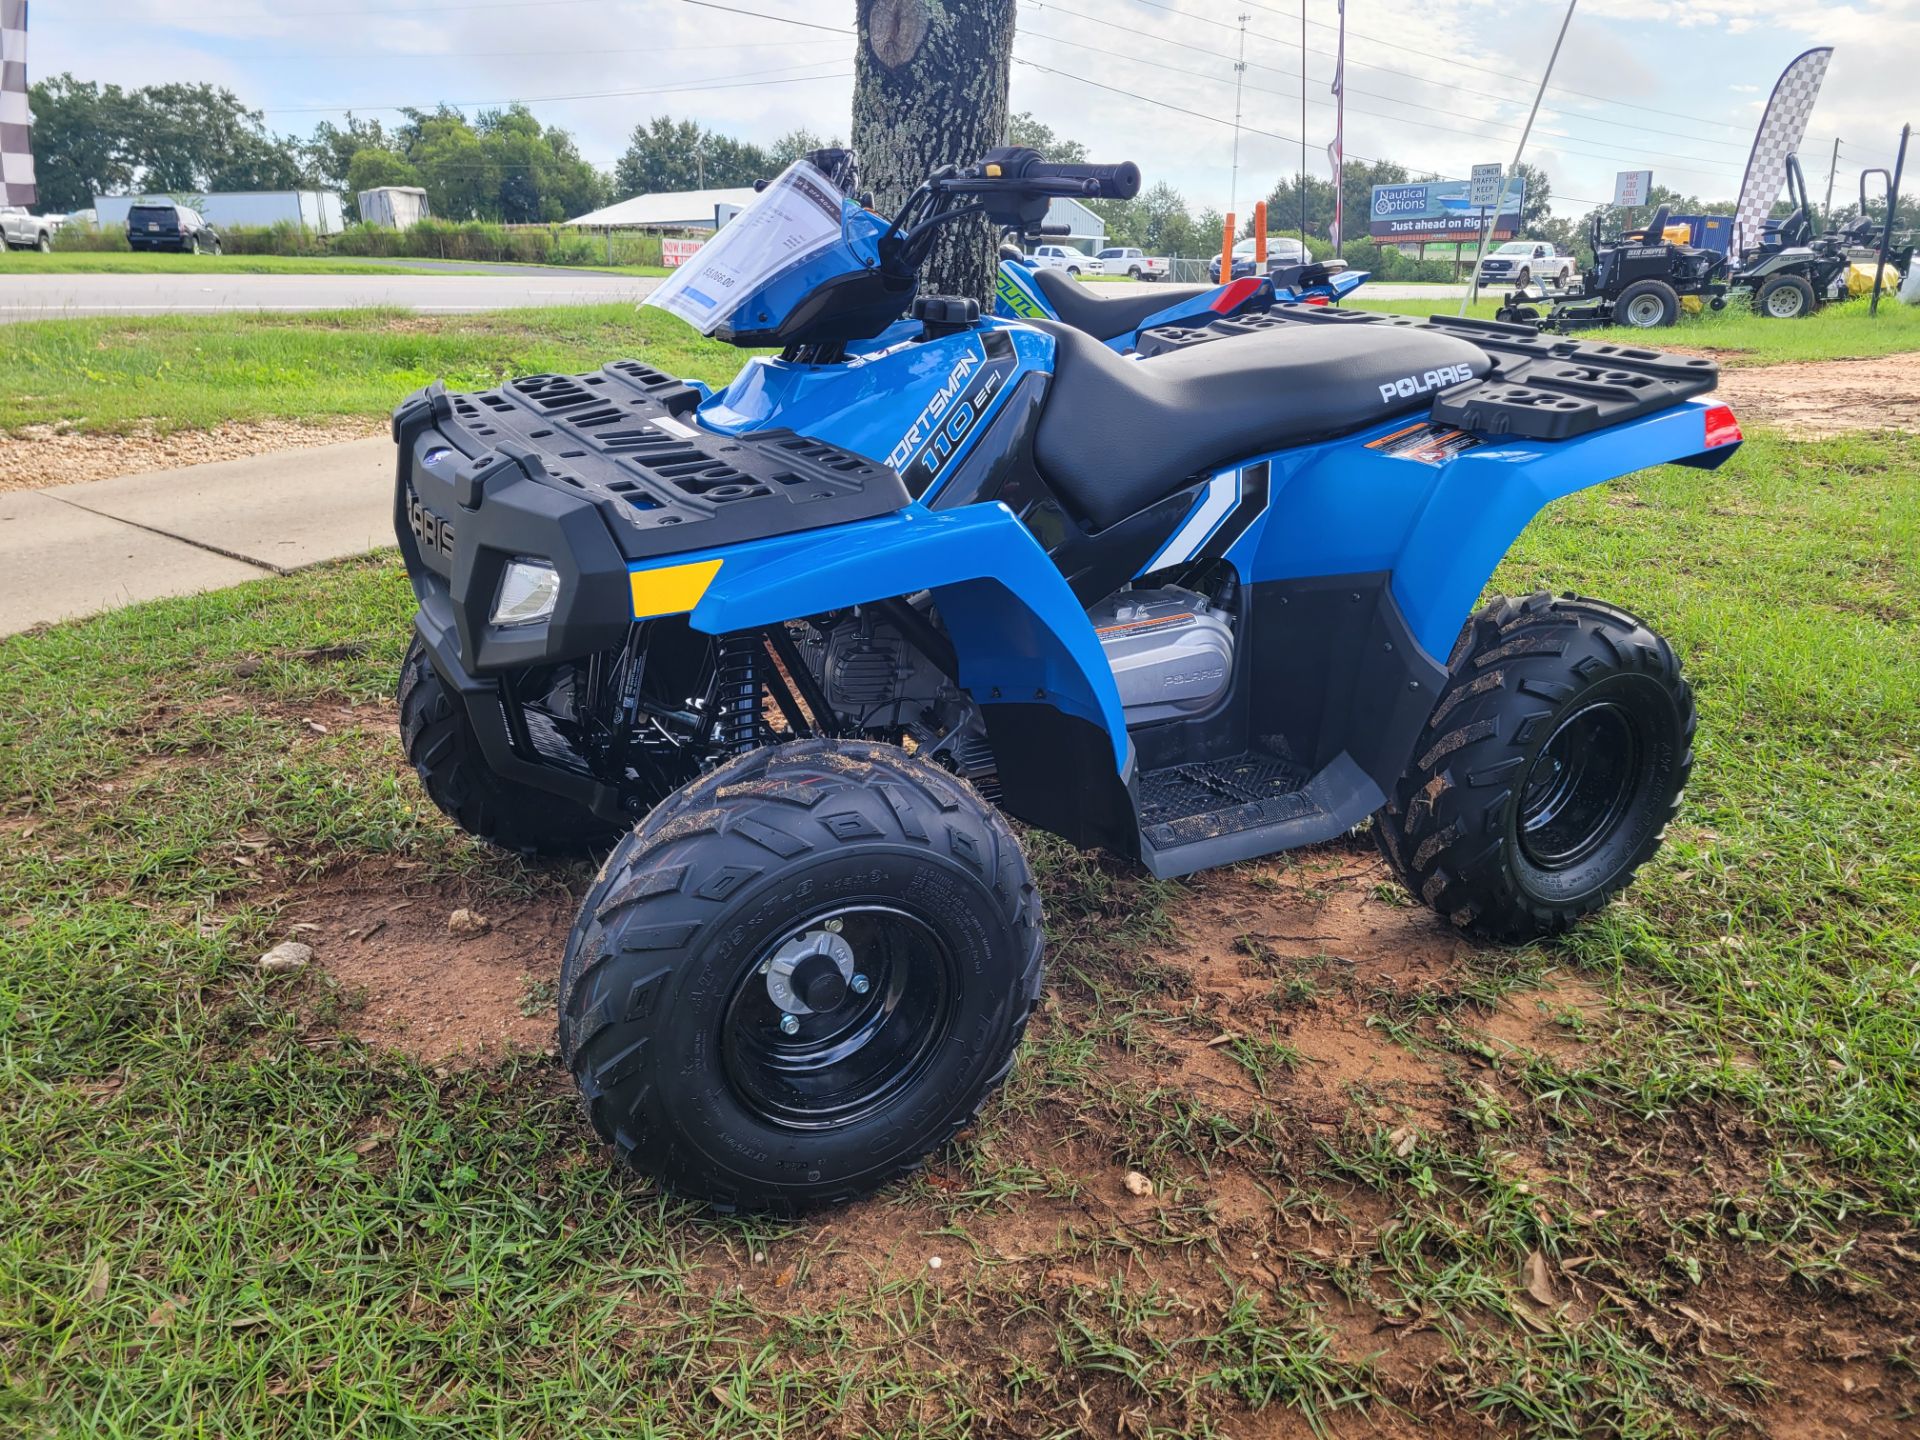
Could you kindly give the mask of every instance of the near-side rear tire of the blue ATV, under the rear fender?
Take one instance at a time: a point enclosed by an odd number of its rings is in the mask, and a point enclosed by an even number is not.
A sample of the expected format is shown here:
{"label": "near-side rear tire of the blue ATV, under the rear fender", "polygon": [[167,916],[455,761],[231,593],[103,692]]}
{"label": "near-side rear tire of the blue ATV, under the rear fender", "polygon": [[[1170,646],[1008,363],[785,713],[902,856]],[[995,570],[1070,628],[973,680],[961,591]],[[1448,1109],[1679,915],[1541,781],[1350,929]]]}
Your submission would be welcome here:
{"label": "near-side rear tire of the blue ATV, under the rear fender", "polygon": [[1576,595],[1494,601],[1448,668],[1375,839],[1457,927],[1557,935],[1659,849],[1693,768],[1693,691],[1665,639]]}

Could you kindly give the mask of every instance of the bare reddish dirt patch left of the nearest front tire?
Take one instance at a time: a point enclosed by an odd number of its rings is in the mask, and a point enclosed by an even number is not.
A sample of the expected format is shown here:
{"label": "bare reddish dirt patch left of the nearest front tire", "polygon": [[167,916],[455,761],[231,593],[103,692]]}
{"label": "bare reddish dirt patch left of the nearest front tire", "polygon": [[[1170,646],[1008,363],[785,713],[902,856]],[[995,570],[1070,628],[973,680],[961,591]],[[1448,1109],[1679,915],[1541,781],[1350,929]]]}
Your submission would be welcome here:
{"label": "bare reddish dirt patch left of the nearest front tire", "polygon": [[[340,985],[340,1029],[451,1068],[551,1052],[553,981],[574,908],[559,883],[501,899],[390,860],[303,885],[282,927]],[[455,910],[482,916],[484,929],[455,933]]]}

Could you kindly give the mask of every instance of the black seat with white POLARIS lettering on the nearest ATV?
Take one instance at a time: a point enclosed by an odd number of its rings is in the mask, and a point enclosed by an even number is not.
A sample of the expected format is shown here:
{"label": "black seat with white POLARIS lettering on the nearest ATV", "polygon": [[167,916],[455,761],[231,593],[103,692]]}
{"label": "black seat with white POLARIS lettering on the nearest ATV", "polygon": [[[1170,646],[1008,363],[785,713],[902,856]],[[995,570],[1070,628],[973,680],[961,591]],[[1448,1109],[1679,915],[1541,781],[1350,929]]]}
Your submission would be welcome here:
{"label": "black seat with white POLARIS lettering on the nearest ATV", "polygon": [[1035,324],[1056,349],[1033,457],[1102,530],[1212,467],[1423,411],[1494,369],[1425,326],[1288,324],[1123,359],[1068,324]]}

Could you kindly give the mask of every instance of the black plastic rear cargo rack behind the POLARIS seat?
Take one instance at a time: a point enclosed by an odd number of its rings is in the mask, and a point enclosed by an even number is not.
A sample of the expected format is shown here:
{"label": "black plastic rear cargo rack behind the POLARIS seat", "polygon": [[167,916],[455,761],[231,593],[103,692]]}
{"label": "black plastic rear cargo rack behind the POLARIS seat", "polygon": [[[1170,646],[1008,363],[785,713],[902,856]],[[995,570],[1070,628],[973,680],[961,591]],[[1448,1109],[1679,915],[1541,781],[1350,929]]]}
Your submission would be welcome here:
{"label": "black plastic rear cargo rack behind the POLARIS seat", "polygon": [[1471,340],[1494,359],[1486,376],[1440,392],[1432,419],[1480,436],[1572,440],[1705,396],[1720,378],[1711,359],[1642,346],[1546,336],[1526,324],[1455,315],[1388,315],[1331,305],[1275,305],[1188,330],[1152,330],[1142,355],[1290,324],[1428,326]]}

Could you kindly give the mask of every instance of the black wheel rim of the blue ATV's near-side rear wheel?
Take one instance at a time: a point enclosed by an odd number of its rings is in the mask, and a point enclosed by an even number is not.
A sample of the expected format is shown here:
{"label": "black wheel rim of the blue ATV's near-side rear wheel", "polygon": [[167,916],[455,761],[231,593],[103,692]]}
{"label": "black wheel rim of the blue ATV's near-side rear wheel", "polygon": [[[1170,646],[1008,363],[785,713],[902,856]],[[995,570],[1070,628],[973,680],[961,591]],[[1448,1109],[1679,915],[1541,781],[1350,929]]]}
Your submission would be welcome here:
{"label": "black wheel rim of the blue ATV's near-side rear wheel", "polygon": [[1521,851],[1540,870],[1571,870],[1619,829],[1632,808],[1644,753],[1632,712],[1611,701],[1559,722],[1521,789]]}

